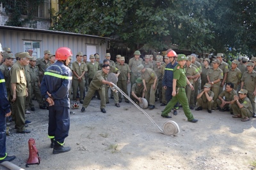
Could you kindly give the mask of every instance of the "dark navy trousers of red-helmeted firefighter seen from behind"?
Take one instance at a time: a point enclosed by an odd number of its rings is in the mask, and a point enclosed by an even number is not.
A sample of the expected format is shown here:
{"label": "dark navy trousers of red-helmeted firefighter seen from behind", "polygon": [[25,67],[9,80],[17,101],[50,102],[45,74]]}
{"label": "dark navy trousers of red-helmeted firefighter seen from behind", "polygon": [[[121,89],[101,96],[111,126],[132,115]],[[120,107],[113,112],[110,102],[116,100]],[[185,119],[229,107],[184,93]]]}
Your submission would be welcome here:
{"label": "dark navy trousers of red-helmeted firefighter seen from behind", "polygon": [[48,135],[54,137],[60,144],[68,137],[70,126],[70,108],[63,106],[49,106],[49,127]]}

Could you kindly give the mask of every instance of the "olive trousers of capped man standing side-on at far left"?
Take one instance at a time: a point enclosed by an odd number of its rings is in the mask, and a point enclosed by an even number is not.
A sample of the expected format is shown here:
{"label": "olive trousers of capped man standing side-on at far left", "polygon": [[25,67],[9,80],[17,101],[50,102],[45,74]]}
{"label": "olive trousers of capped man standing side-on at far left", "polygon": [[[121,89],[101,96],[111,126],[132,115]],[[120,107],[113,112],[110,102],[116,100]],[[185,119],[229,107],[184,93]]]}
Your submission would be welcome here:
{"label": "olive trousers of capped man standing side-on at far left", "polygon": [[25,103],[26,96],[17,96],[15,100],[15,126],[17,132],[25,130]]}

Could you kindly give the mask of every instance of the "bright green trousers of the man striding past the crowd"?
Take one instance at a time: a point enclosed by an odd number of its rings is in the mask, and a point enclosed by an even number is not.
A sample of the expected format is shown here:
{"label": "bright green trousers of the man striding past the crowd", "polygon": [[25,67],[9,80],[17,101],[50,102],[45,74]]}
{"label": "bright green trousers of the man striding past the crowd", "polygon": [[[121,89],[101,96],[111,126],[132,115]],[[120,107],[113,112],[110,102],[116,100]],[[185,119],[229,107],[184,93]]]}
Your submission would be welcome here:
{"label": "bright green trousers of the man striding past the crowd", "polygon": [[175,106],[175,104],[178,101],[182,105],[182,109],[183,109],[186,117],[188,118],[188,121],[193,120],[194,117],[193,117],[193,115],[191,113],[191,110],[189,109],[188,99],[187,99],[187,96],[186,96],[186,90],[184,88],[180,88],[179,89],[179,93],[176,94],[176,96],[172,97],[170,102],[164,108],[164,110],[162,112],[162,115],[163,116],[168,116],[168,113],[170,113],[170,111],[172,110],[172,108]]}

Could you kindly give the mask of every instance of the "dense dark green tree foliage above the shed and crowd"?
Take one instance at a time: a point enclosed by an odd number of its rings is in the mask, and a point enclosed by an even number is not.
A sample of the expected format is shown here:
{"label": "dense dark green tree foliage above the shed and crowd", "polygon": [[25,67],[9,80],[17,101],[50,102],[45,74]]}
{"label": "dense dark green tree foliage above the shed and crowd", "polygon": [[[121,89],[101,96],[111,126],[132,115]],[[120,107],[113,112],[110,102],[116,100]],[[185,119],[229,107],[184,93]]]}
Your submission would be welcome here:
{"label": "dense dark green tree foliage above the shed and crowd", "polygon": [[136,49],[255,50],[253,0],[60,0],[51,29],[111,37]]}

